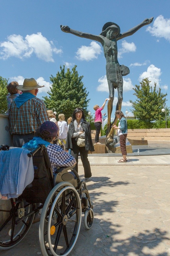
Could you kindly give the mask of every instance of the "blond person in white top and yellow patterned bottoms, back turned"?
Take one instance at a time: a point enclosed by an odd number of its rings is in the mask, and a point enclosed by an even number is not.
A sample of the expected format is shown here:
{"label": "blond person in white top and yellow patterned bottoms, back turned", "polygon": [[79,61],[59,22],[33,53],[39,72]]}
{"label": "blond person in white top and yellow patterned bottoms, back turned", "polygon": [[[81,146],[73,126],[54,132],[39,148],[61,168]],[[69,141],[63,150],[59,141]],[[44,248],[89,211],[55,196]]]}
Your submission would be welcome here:
{"label": "blond person in white top and yellow patterned bottoms, back turned", "polygon": [[58,127],[59,127],[59,138],[58,138],[58,143],[59,146],[65,150],[66,148],[66,138],[67,138],[67,132],[68,132],[68,125],[67,122],[65,121],[65,116],[64,114],[59,114],[58,115],[59,121]]}

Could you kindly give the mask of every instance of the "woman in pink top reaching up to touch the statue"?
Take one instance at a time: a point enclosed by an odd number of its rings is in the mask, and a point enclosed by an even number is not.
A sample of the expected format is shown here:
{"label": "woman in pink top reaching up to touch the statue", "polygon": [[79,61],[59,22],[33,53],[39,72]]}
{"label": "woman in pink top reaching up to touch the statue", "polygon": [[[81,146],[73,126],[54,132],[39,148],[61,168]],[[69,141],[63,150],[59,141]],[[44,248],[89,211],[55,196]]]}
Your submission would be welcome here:
{"label": "woman in pink top reaching up to touch the statue", "polygon": [[94,126],[96,127],[95,144],[101,144],[99,142],[99,134],[100,134],[101,125],[102,125],[101,111],[104,109],[107,100],[109,100],[109,99],[105,99],[105,101],[101,107],[99,107],[99,105],[94,105],[94,107],[93,107],[95,110]]}

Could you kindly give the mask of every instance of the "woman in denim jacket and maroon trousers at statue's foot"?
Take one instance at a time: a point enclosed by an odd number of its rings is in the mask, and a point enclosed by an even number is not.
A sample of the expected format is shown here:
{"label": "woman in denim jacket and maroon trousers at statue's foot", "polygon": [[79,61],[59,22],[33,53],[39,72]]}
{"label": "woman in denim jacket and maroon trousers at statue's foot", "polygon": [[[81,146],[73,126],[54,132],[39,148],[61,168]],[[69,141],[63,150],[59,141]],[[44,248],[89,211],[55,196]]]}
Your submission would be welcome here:
{"label": "woman in denim jacket and maroon trousers at statue's foot", "polygon": [[115,112],[115,116],[118,117],[119,123],[118,126],[114,125],[113,128],[117,129],[117,135],[120,138],[120,148],[123,158],[118,161],[118,163],[127,162],[127,151],[126,151],[126,138],[127,138],[127,121],[124,116],[124,113],[121,110]]}

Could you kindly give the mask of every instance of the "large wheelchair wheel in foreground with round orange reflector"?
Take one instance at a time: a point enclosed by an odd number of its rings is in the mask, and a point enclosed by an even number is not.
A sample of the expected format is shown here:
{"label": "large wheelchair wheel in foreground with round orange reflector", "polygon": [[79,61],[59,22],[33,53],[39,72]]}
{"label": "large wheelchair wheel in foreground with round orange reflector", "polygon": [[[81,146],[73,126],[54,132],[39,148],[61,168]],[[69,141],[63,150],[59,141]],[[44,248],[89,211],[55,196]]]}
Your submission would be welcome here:
{"label": "large wheelchair wheel in foreground with round orange reflector", "polygon": [[76,244],[80,226],[80,196],[71,183],[60,182],[49,193],[41,213],[42,255],[68,255]]}

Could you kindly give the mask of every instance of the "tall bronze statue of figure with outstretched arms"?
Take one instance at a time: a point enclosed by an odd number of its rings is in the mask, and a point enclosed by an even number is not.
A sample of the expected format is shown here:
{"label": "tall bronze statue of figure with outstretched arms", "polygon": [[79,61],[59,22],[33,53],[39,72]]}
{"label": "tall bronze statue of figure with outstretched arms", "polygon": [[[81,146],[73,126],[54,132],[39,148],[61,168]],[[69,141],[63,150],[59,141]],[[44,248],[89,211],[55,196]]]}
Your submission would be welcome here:
{"label": "tall bronze statue of figure with outstretched arms", "polygon": [[84,32],[80,32],[77,30],[73,30],[68,26],[62,26],[61,30],[66,33],[70,33],[79,37],[84,37],[87,39],[98,41],[102,44],[104,49],[104,56],[106,58],[106,76],[107,83],[109,86],[109,98],[107,104],[107,138],[106,138],[106,146],[112,151],[114,148],[114,129],[112,128],[113,124],[116,124],[117,117],[115,117],[113,123],[111,124],[111,113],[113,108],[113,100],[114,100],[114,89],[117,88],[118,92],[118,100],[116,105],[116,110],[121,110],[121,105],[123,101],[123,78],[122,76],[126,76],[130,73],[129,68],[124,65],[119,65],[117,60],[117,41],[133,35],[137,30],[141,27],[148,25],[152,22],[153,17],[150,19],[145,19],[136,27],[131,28],[129,31],[121,34],[120,27],[114,22],[107,22],[104,24],[102,28],[102,32],[100,35],[93,35]]}

